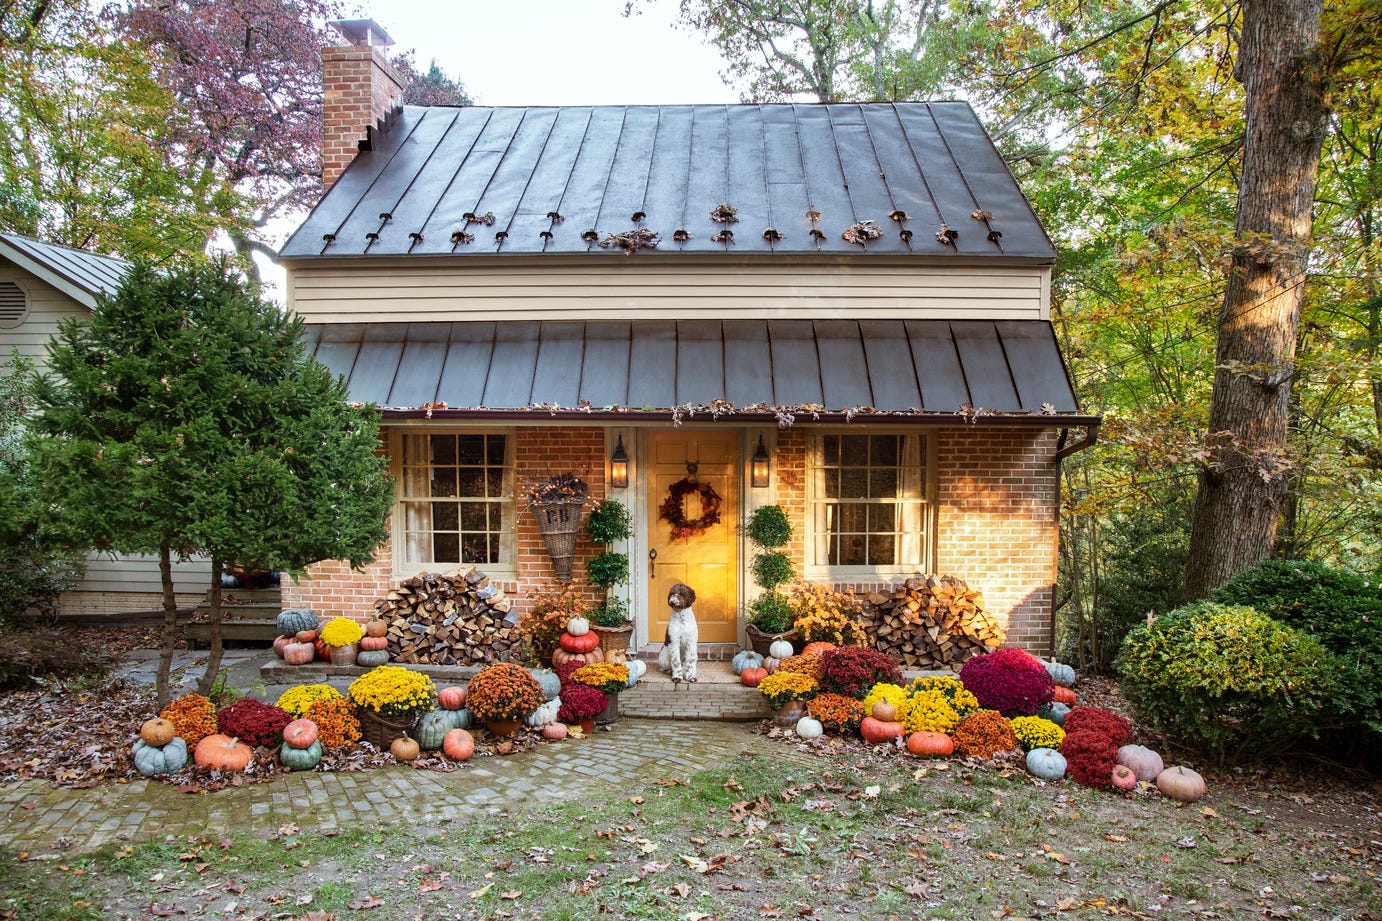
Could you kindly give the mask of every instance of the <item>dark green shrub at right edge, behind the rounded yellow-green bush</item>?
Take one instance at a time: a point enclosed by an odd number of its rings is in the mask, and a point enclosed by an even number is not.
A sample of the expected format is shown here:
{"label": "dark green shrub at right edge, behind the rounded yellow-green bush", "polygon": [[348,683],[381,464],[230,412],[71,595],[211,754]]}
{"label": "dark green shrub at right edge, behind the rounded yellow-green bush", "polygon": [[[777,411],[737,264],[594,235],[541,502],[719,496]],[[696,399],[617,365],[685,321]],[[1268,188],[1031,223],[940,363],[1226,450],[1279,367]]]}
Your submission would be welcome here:
{"label": "dark green shrub at right edge, behind the rounded yellow-green bush", "polygon": [[1375,582],[1323,563],[1265,560],[1212,597],[1251,604],[1320,640],[1343,669],[1338,709],[1382,733],[1382,590]]}

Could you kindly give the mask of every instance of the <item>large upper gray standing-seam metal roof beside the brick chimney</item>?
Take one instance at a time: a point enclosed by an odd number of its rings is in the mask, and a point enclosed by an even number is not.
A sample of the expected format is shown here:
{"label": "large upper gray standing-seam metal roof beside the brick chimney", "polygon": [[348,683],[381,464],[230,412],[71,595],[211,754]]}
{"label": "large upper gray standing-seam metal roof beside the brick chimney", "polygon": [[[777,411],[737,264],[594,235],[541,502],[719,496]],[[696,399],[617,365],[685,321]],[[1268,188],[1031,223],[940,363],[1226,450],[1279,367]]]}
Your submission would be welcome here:
{"label": "large upper gray standing-seam metal roof beside the brick chimney", "polygon": [[[840,238],[860,221],[882,235]],[[636,228],[659,253],[1054,259],[966,102],[404,108],[281,256],[621,254],[598,241]]]}

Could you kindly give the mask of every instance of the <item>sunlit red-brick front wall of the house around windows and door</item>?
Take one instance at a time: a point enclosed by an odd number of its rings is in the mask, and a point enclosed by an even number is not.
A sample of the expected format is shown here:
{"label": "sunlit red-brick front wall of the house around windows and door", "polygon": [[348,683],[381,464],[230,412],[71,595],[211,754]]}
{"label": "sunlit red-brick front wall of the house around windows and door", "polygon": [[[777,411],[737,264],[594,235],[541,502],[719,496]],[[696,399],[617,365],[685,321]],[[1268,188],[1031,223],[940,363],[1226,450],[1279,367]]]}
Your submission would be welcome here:
{"label": "sunlit red-brick front wall of the house around windows and door", "polygon": [[[590,484],[590,505],[605,496],[605,431],[598,426],[527,426],[513,430],[515,487],[553,473],[575,472]],[[807,437],[803,427],[778,433],[774,451],[775,501],[788,509],[796,535],[788,548],[806,563]],[[1052,644],[1050,610],[1056,579],[1057,476],[1052,462],[1056,433],[1045,429],[966,426],[933,430],[936,441],[933,567],[963,578],[984,592],[990,611],[1006,621],[1009,642],[1036,653]],[[637,492],[621,499],[637,520]],[[546,543],[518,499],[517,578],[496,578],[521,613],[536,592],[556,585]],[[585,563],[600,550],[583,535],[576,545],[572,578],[585,585]],[[301,582],[285,581],[283,603],[319,614],[363,620],[375,600],[394,585],[392,543],[375,563],[351,573],[344,563],[323,563]],[[887,582],[849,582],[855,590],[883,590]],[[589,589],[590,597],[596,592]]]}

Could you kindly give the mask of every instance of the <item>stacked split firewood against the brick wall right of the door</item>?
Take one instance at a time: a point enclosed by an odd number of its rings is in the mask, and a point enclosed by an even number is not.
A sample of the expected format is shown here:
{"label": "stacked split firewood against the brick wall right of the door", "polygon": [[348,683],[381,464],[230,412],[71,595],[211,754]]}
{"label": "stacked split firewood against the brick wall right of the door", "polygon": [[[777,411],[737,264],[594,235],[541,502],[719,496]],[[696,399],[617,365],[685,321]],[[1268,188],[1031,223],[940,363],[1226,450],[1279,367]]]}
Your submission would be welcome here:
{"label": "stacked split firewood against the brick wall right of the door", "polygon": [[952,575],[914,577],[890,593],[864,599],[869,642],[902,668],[959,669],[969,657],[1003,644],[1003,628],[981,592]]}

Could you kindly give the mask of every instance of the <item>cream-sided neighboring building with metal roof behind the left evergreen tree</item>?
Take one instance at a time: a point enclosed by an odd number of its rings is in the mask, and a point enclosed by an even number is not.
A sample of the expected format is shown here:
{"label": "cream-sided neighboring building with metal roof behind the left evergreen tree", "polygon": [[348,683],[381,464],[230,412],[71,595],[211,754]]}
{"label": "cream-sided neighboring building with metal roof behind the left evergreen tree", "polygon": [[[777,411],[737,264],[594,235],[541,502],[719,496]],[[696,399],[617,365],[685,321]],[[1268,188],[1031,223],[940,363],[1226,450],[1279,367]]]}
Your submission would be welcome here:
{"label": "cream-sided neighboring building with metal roof behind the left evergreen tree", "polygon": [[[0,365],[11,353],[41,368],[58,321],[87,317],[101,295],[113,292],[130,264],[18,234],[0,234]],[[205,560],[173,567],[178,606],[192,607],[210,584]],[[152,556],[93,553],[86,577],[62,597],[64,613],[152,611],[163,604],[159,561]]]}

